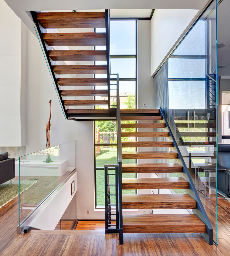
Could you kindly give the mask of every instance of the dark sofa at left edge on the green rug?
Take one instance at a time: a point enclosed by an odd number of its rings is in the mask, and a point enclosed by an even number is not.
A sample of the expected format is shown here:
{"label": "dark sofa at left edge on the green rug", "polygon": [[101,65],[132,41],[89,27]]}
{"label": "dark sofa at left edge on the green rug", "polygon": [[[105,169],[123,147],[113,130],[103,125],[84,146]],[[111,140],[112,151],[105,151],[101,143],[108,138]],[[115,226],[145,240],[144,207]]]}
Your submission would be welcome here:
{"label": "dark sofa at left edge on the green rug", "polygon": [[0,184],[15,177],[14,158],[8,156],[8,152],[0,154]]}

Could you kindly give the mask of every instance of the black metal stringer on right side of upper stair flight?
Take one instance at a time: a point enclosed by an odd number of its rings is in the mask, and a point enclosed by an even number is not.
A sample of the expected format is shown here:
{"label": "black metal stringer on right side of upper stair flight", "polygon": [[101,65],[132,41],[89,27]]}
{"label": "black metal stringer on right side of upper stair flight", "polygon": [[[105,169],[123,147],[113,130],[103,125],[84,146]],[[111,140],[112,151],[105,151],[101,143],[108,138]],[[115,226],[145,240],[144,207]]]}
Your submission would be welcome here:
{"label": "black metal stringer on right side of upper stair flight", "polygon": [[109,10],[105,10],[105,40],[106,40],[106,62],[107,62],[108,107],[109,107],[109,116],[110,116],[110,17],[109,17]]}

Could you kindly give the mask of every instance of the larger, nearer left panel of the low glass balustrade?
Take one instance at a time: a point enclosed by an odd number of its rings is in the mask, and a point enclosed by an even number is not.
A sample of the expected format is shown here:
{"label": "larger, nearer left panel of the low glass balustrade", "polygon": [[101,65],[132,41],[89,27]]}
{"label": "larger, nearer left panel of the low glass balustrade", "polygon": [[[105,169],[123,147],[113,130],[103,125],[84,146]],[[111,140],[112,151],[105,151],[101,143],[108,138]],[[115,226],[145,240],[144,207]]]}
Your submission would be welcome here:
{"label": "larger, nearer left panel of the low glass balustrade", "polygon": [[59,146],[19,157],[19,184],[20,225],[59,185]]}

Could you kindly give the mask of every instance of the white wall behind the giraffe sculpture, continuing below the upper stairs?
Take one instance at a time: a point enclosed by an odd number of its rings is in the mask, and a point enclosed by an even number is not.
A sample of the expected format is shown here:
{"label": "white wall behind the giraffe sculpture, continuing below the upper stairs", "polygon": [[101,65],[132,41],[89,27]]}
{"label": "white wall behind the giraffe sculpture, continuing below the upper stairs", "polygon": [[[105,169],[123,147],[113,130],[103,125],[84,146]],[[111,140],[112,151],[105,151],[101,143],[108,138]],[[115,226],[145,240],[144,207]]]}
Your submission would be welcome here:
{"label": "white wall behind the giraffe sculpture, continuing below the upper stairs", "polygon": [[[66,120],[57,99],[50,73],[38,39],[27,29],[26,54],[26,153],[46,147],[45,125],[51,114],[51,145],[76,140],[77,217],[103,218],[103,213],[94,216],[94,148],[93,122]],[[86,215],[89,210],[89,215]]]}

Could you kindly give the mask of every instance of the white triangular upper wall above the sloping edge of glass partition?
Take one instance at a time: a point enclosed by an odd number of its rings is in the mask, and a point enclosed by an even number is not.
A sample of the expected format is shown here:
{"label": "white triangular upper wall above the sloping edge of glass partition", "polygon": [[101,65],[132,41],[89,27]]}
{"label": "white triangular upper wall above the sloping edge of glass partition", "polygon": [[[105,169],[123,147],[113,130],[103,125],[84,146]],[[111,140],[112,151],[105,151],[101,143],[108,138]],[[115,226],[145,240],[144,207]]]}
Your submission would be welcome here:
{"label": "white triangular upper wall above the sloping edge of glass partition", "polygon": [[158,9],[151,20],[151,75],[199,10]]}

